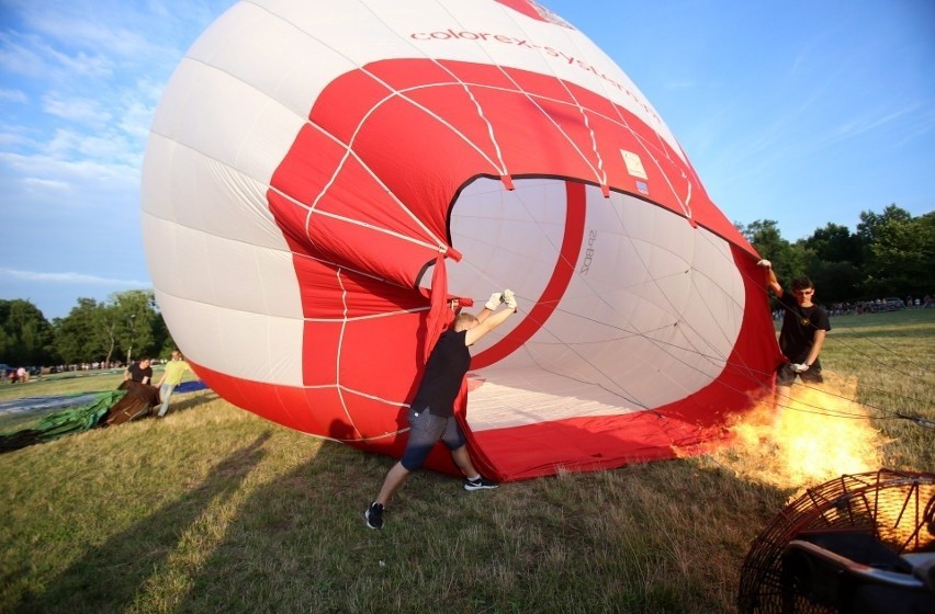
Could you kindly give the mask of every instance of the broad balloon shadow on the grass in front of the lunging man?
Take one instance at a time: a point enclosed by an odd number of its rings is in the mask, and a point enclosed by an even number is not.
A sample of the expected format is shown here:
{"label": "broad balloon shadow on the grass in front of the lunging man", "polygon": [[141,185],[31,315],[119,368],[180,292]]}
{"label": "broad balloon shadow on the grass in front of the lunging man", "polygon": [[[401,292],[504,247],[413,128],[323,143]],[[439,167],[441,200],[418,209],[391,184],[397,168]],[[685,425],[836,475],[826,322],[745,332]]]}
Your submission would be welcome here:
{"label": "broad balloon shadow on the grass in front of the lunging man", "polygon": [[729,612],[751,509],[782,500],[681,462],[474,493],[425,470],[372,531],[393,462],[324,442],[244,501],[173,612]]}

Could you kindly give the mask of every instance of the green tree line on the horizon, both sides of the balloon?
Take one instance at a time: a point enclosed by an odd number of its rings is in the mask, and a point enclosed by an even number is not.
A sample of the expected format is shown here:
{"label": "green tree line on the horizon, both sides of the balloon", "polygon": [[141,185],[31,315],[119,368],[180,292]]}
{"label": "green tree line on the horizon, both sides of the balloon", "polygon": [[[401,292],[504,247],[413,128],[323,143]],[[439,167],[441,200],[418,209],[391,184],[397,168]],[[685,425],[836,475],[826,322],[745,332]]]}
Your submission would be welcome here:
{"label": "green tree line on the horizon, both sides of the balloon", "polygon": [[[857,230],[829,223],[806,239],[782,238],[771,219],[736,224],[753,247],[773,262],[780,282],[808,275],[826,305],[888,296],[931,295],[935,270],[935,213],[913,217],[890,205],[863,212]],[[0,300],[0,363],[56,365],[128,363],[162,356],[172,339],[151,291],[112,294],[108,300],[79,298],[52,322],[23,299]]]}

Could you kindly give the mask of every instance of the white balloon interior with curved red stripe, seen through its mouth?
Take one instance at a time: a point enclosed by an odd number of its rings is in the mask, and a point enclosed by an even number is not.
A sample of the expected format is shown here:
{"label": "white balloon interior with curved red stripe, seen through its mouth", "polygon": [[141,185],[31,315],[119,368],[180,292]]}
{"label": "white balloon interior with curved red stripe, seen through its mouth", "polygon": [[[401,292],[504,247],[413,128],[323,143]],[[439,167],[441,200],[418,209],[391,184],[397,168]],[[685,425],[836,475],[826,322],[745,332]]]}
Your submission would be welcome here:
{"label": "white balloon interior with curved red stripe, seen through its mouth", "polygon": [[[740,286],[726,243],[637,195],[512,179],[512,191],[474,179],[451,207],[450,237],[464,258],[448,263],[449,292],[477,305],[505,287],[520,297],[519,317],[475,345],[472,369],[494,383],[542,369],[593,386],[583,394],[605,407],[613,397],[611,411],[622,412],[690,397],[721,374],[744,309],[730,296]],[[690,308],[709,302],[723,309]],[[658,365],[672,386],[650,383],[646,368]]]}

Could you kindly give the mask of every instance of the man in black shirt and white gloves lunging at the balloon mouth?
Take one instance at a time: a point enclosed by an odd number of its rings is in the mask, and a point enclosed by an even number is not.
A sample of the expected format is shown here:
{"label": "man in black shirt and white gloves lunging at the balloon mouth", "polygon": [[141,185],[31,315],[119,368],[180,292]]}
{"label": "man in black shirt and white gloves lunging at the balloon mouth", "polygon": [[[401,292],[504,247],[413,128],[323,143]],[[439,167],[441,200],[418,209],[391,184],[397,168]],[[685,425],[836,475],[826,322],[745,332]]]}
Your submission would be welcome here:
{"label": "man in black shirt and white gloves lunging at the balloon mouth", "polygon": [[[502,304],[506,309],[497,310]],[[438,441],[464,474],[465,490],[487,490],[497,484],[483,477],[471,462],[466,437],[454,418],[454,400],[471,367],[469,348],[516,312],[511,289],[495,292],[475,317],[459,314],[454,325],[441,333],[426,363],[425,374],[409,405],[409,439],[403,457],[386,473],[376,499],[364,510],[370,528],[383,528],[383,509],[406,478],[425,463]]]}

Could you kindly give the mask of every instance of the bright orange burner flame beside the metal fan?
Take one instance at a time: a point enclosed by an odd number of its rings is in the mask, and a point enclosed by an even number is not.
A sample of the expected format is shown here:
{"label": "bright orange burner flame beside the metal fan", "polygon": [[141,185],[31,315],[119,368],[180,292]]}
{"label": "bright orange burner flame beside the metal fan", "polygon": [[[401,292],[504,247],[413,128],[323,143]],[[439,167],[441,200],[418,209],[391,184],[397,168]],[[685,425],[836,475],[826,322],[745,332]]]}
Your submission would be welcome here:
{"label": "bright orange burner flame beside the metal fan", "polygon": [[885,443],[867,411],[852,401],[857,379],[796,385],[730,427],[733,444],[712,457],[737,475],[799,488],[880,467]]}

